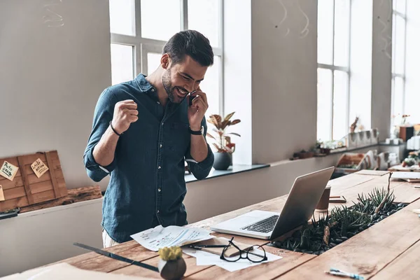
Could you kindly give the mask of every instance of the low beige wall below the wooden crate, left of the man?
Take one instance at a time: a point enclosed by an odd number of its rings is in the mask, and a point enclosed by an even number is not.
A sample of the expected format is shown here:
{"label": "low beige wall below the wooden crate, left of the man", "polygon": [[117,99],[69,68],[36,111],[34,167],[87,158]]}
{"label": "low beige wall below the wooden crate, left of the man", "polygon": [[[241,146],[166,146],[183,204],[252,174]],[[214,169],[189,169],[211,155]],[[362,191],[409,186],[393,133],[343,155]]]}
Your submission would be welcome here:
{"label": "low beige wall below the wooden crate, left of the man", "polygon": [[19,214],[0,221],[0,277],[102,248],[102,199]]}

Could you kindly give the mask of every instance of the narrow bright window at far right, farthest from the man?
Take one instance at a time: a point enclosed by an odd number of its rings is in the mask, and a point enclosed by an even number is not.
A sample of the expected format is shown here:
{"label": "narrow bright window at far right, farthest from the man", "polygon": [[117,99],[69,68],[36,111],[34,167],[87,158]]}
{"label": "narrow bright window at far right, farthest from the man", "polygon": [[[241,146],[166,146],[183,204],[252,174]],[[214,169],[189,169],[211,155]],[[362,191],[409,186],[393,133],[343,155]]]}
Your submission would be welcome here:
{"label": "narrow bright window at far right, farthest from the man", "polygon": [[[393,1],[392,22],[392,83],[391,128],[400,123],[405,114],[405,41],[407,27],[406,0]],[[394,118],[395,117],[395,118]],[[392,132],[392,131],[391,131]]]}

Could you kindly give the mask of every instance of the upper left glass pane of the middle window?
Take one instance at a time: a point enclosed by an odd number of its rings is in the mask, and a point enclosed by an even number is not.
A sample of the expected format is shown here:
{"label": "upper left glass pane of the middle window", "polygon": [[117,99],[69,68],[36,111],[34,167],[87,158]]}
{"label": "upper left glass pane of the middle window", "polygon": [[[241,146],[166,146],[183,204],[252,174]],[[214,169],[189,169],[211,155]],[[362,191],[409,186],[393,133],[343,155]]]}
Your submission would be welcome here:
{"label": "upper left glass pane of the middle window", "polygon": [[334,0],[318,1],[318,63],[332,64]]}

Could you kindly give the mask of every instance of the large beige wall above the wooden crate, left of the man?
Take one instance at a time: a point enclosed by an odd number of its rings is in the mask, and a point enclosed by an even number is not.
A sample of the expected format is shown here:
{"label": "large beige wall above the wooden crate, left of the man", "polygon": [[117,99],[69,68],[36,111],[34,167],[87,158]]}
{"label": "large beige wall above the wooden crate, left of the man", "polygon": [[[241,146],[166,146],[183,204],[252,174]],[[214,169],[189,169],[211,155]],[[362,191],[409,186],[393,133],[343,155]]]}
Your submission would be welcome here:
{"label": "large beige wall above the wooden crate, left of the man", "polygon": [[92,184],[83,151],[111,84],[108,22],[104,0],[0,1],[0,158],[57,150],[68,188]]}

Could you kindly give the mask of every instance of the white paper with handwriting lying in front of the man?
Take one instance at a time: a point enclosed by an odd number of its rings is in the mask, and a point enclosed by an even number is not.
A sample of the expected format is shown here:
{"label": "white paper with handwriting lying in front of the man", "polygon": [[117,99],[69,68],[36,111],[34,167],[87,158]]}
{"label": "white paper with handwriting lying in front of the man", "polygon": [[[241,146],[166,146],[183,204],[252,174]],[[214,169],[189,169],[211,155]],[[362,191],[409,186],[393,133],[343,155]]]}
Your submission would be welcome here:
{"label": "white paper with handwriting lying in front of the man", "polygon": [[131,235],[141,246],[151,251],[159,251],[159,248],[170,246],[183,246],[194,242],[212,239],[209,230],[202,228],[183,228],[170,225],[163,228],[158,225],[156,228]]}

